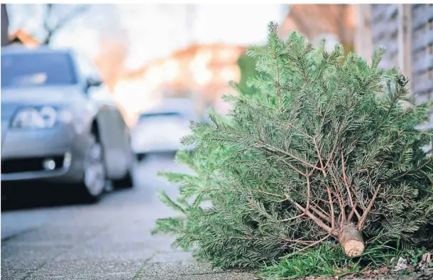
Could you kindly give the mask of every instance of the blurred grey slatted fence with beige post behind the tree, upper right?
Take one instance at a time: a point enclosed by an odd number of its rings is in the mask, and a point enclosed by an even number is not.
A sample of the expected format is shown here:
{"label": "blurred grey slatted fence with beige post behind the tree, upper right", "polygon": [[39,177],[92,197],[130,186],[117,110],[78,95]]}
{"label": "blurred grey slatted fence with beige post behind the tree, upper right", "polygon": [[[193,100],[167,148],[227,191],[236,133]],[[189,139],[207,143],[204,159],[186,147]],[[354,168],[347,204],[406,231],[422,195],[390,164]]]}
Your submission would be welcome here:
{"label": "blurred grey slatted fence with beige post behind the tree, upper right", "polygon": [[433,99],[433,5],[364,4],[358,9],[356,49],[371,57],[385,48],[384,69],[398,67],[410,78],[417,103]]}

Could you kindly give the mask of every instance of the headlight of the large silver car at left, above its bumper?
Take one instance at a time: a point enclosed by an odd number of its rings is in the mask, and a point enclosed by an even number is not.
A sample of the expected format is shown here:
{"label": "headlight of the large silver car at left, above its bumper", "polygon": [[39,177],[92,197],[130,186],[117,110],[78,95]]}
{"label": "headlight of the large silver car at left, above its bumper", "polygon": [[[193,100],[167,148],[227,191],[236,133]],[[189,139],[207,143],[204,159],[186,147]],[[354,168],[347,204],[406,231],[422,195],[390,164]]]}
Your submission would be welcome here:
{"label": "headlight of the large silver car at left, above its bumper", "polygon": [[18,111],[13,118],[13,128],[49,128],[56,124],[72,122],[73,114],[69,109],[51,106],[26,107]]}

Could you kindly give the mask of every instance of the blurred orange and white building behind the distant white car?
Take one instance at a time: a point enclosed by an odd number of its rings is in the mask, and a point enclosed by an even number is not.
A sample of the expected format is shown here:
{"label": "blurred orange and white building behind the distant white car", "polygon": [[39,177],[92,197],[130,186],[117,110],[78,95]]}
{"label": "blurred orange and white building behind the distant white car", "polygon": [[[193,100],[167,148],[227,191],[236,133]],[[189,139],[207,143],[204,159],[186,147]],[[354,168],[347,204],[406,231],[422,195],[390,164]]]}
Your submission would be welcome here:
{"label": "blurred orange and white building behind the distant white car", "polygon": [[230,80],[239,81],[236,61],[245,50],[243,46],[228,44],[191,45],[143,68],[124,72],[114,94],[131,108],[131,114],[138,114],[165,97],[193,99],[197,113],[203,113],[221,95],[231,92]]}

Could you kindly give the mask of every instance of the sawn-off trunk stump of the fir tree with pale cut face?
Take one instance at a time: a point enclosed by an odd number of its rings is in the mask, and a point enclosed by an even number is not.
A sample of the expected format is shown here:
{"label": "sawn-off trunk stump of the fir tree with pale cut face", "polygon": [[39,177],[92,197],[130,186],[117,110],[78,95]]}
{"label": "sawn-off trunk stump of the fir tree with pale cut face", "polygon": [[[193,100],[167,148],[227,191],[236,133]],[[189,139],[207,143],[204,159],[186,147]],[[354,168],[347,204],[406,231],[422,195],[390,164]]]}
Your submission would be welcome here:
{"label": "sawn-off trunk stump of the fir tree with pale cut face", "polygon": [[343,227],[339,241],[344,254],[348,257],[357,257],[366,249],[361,232],[353,224],[347,224]]}

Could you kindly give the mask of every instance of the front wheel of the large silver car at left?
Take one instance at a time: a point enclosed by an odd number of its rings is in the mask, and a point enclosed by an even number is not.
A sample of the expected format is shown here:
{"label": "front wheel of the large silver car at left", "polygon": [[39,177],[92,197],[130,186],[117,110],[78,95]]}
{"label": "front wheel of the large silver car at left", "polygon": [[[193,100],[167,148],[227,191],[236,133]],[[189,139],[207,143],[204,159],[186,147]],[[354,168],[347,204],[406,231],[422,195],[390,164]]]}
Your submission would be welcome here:
{"label": "front wheel of the large silver car at left", "polygon": [[90,134],[89,139],[90,144],[84,156],[84,172],[79,185],[79,194],[82,202],[96,203],[104,193],[106,186],[104,149],[94,134]]}

